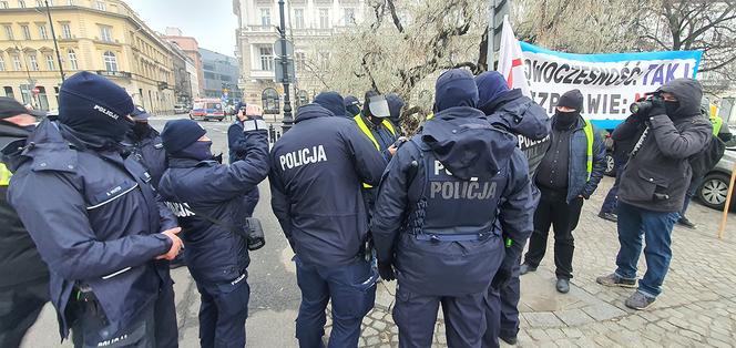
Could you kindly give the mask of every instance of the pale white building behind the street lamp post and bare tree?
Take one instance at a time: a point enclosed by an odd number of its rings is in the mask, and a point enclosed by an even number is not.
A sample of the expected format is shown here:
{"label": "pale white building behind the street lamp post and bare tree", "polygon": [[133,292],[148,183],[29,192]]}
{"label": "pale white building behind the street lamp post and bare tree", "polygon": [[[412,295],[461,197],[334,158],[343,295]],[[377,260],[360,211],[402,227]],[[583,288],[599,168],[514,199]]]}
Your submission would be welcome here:
{"label": "pale white building behind the street lamp post and bare tree", "polygon": [[[362,21],[365,0],[287,0],[285,1],[287,39],[294,42],[296,83],[290,86],[292,108],[310,101],[325,89],[319,75],[328,68],[327,40],[340,29]],[[237,52],[241,62],[239,86],[246,102],[262,103],[262,93],[275,89],[282,99],[283,85],[275,82],[274,44],[279,34],[277,0],[233,0],[238,17]],[[301,99],[295,94],[303,95]],[[280,122],[280,115],[268,116]]]}

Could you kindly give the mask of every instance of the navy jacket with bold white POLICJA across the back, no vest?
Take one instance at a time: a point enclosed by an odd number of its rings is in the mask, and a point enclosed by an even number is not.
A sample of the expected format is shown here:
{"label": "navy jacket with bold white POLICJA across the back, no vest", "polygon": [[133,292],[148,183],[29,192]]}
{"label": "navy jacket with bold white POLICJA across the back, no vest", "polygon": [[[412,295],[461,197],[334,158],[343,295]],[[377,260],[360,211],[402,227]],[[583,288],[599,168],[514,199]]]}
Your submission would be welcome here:
{"label": "navy jacket with bold white POLICJA across the back, no vest", "polygon": [[362,183],[378,185],[386,161],[352,120],[317,104],[270,152],[272,207],[296,255],[338,266],[358,257],[368,234]]}

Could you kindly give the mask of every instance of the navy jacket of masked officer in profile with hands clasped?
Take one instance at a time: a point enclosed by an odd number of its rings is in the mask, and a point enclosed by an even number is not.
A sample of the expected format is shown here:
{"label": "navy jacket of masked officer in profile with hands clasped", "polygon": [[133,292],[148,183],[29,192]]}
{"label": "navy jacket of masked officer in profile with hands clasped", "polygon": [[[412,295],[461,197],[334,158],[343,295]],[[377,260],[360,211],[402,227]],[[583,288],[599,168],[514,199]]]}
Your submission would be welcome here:
{"label": "navy jacket of masked officer in profile with hands clasped", "polygon": [[[161,234],[176,219],[160,202],[151,175],[121,151],[89,150],[63,124],[45,120],[27,145],[4,158],[14,171],[9,201],[51,272],[50,290],[62,337],[64,310],[89,286],[116,331],[132,324],[171,283],[171,248]],[[9,162],[6,162],[7,164]]]}

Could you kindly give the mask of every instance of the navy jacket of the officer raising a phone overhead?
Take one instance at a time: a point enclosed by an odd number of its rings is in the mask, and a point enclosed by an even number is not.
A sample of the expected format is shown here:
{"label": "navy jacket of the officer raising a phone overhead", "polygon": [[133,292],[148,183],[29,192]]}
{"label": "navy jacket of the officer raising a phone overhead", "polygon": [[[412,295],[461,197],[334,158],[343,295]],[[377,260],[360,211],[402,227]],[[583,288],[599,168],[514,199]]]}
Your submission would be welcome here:
{"label": "navy jacket of the officer raising a phone overhead", "polygon": [[267,131],[254,126],[245,147],[245,158],[231,165],[172,157],[159,185],[178,217],[184,258],[197,282],[232,282],[245,274],[251,262],[247,240],[234,228],[244,228],[247,217],[243,193],[268,175]]}

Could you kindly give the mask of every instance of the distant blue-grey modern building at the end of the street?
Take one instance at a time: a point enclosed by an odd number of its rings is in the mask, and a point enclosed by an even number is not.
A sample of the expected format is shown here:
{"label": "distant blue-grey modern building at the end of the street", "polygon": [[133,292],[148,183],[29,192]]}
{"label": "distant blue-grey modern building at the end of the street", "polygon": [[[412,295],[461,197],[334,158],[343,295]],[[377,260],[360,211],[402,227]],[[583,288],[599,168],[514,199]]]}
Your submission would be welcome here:
{"label": "distant blue-grey modern building at the end of the street", "polygon": [[202,73],[204,98],[225,98],[225,101],[239,101],[241,90],[237,86],[239,66],[237,59],[214,51],[200,49],[202,55]]}

